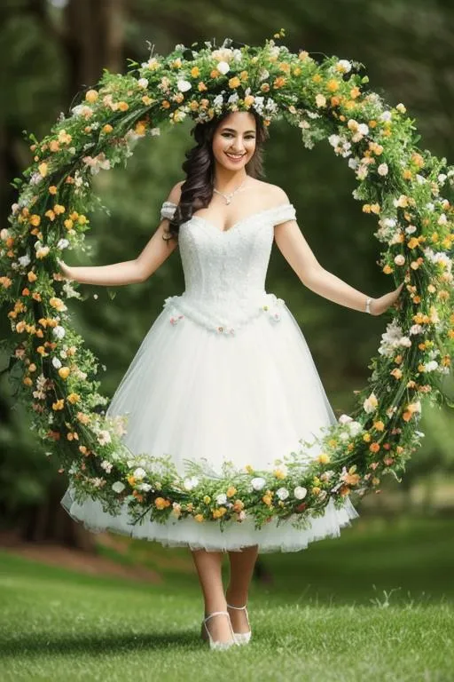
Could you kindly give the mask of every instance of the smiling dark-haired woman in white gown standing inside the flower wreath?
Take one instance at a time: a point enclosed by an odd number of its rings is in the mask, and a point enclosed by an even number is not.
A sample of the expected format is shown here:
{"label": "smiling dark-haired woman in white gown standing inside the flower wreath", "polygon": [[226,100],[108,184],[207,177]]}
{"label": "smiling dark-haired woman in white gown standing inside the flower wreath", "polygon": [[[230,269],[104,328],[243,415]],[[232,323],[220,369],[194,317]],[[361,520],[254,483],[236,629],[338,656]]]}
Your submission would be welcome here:
{"label": "smiling dark-haired woman in white gown standing inside the flower wreath", "polygon": [[[179,472],[185,460],[215,473],[229,461],[265,469],[337,423],[301,329],[284,302],[265,292],[273,239],[309,289],[359,312],[383,313],[402,285],[372,299],[317,262],[285,192],[257,177],[266,137],[258,115],[225,113],[193,132],[186,179],[168,194],[160,226],[140,255],[111,266],[60,266],[77,282],[144,282],[179,245],[184,293],[166,299],[107,414],[129,413],[131,451],[170,454]],[[114,518],[93,501],[76,504],[69,488],[62,504],[92,530],[188,546],[205,601],[202,636],[212,648],[249,641],[247,593],[259,550],[301,550],[339,535],[358,516],[347,498],[340,510],[328,504],[304,530],[273,522],[255,529],[246,518],[221,531],[191,518],[131,527],[126,511]],[[225,551],[231,578],[224,595]]]}

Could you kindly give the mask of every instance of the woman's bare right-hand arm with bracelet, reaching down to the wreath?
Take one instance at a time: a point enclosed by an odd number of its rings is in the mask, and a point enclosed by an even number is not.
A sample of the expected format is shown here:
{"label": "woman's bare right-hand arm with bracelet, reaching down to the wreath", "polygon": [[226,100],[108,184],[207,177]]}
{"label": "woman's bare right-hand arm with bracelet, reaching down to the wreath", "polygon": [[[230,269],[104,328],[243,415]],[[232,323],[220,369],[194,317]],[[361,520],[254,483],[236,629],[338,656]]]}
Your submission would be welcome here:
{"label": "woman's bare right-hand arm with bracelet, reaching down to the wreath", "polygon": [[[350,287],[347,282],[343,282],[318,263],[295,220],[287,220],[275,226],[274,234],[278,249],[308,289],[333,303],[365,312],[367,295]],[[402,287],[403,283],[380,298],[372,298],[370,305],[372,315],[380,315],[393,305]]]}

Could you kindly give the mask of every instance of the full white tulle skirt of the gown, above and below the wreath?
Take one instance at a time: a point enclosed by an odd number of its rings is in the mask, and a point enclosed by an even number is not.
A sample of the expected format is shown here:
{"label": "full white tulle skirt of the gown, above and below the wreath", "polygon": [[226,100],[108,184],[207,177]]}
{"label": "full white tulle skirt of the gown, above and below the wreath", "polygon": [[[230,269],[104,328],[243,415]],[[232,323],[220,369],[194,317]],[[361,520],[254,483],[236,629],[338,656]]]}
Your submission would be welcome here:
{"label": "full white tulle skirt of the gown, above and below the wreath", "polygon": [[[337,422],[309,346],[285,304],[280,319],[254,318],[235,336],[216,333],[189,317],[176,324],[164,309],[154,321],[107,410],[129,415],[123,440],[131,452],[170,455],[179,473],[185,460],[205,461],[221,472],[225,461],[243,468],[274,468],[276,459],[301,450],[323,427]],[[305,448],[306,450],[308,448]],[[309,448],[317,456],[314,442]],[[283,481],[284,485],[284,481]],[[260,529],[253,519],[199,523],[170,517],[132,525],[127,505],[113,516],[99,502],[74,501],[71,486],[61,504],[92,532],[111,530],[166,546],[208,551],[298,551],[340,535],[358,513],[347,497],[338,510],[331,500],[304,529],[275,519]]]}

